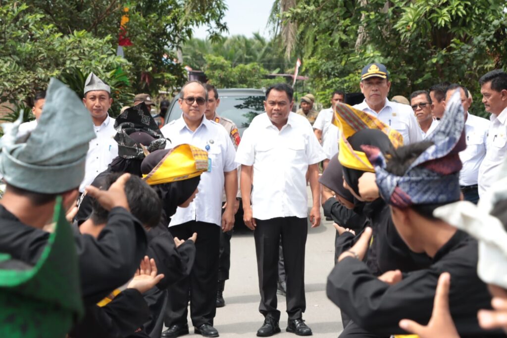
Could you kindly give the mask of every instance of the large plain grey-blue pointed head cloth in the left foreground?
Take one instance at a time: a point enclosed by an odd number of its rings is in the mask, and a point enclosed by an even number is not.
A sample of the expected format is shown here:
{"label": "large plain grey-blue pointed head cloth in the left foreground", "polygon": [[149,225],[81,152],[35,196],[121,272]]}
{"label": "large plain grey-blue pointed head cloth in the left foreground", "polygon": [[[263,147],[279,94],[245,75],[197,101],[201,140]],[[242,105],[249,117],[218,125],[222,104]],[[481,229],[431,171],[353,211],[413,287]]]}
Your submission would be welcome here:
{"label": "large plain grey-blue pointed head cloth in the left foreground", "polygon": [[[79,186],[85,176],[88,143],[96,137],[90,112],[75,92],[60,81],[49,82],[44,114],[24,142],[17,127],[3,124],[0,172],[7,183],[35,193],[57,194]],[[72,121],[72,127],[62,123]]]}

